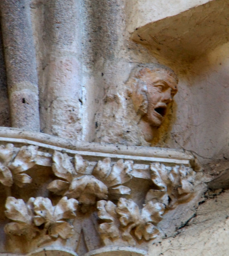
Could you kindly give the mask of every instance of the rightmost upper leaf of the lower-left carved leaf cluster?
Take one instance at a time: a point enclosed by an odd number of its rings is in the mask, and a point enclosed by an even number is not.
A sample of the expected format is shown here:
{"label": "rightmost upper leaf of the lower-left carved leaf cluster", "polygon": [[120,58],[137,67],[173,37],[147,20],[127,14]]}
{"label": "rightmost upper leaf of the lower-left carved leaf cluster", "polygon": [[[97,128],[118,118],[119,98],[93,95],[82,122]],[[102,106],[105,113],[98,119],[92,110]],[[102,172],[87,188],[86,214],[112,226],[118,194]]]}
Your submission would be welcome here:
{"label": "rightmost upper leaf of the lower-left carved leaf cluster", "polygon": [[78,201],[76,199],[67,199],[67,196],[61,198],[54,210],[54,220],[59,221],[61,219],[73,219],[76,217],[75,211],[78,207]]}

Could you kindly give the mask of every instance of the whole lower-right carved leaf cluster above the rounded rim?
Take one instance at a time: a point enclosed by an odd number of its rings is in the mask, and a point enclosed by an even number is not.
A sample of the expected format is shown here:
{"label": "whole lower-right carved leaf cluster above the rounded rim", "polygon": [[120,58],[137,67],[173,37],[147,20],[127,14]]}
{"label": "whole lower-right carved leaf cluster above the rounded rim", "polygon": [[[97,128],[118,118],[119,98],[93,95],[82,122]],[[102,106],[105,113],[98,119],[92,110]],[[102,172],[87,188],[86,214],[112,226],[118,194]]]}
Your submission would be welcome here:
{"label": "whole lower-right carved leaf cluster above the rounded rim", "polygon": [[104,221],[99,225],[99,232],[105,244],[109,244],[108,239],[120,239],[124,244],[135,246],[132,234],[138,240],[157,237],[159,230],[155,225],[162,220],[165,205],[149,202],[140,210],[133,200],[120,198],[117,206],[111,201],[101,200],[97,209],[99,218]]}

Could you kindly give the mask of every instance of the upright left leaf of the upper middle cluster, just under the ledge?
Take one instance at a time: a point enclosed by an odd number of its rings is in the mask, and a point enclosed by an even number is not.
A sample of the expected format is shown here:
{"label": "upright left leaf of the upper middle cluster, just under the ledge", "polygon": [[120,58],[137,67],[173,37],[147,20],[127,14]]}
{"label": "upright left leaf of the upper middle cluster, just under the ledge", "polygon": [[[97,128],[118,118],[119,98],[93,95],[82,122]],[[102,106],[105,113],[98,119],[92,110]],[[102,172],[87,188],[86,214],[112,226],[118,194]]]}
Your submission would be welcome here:
{"label": "upright left leaf of the upper middle cluster, just under the ledge", "polygon": [[59,151],[54,151],[52,159],[52,170],[55,175],[59,178],[66,179],[68,182],[71,182],[73,176],[77,173],[67,153],[62,154]]}

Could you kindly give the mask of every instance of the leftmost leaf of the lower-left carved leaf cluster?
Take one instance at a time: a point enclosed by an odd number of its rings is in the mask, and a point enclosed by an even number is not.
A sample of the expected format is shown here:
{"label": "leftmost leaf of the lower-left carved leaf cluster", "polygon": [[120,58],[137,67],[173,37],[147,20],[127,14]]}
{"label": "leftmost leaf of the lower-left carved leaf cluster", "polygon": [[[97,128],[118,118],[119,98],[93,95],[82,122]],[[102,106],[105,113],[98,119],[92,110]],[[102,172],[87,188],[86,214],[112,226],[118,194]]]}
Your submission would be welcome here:
{"label": "leftmost leaf of the lower-left carved leaf cluster", "polygon": [[31,224],[32,216],[29,215],[26,204],[22,199],[8,196],[5,207],[7,218],[19,223]]}

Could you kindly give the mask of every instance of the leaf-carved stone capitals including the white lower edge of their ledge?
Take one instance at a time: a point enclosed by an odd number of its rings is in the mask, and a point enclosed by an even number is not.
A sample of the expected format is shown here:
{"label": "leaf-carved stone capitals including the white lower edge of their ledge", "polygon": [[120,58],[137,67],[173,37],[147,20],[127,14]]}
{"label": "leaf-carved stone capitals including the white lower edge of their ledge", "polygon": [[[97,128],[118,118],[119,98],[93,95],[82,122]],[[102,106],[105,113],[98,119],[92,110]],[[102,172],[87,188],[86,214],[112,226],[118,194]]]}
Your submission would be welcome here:
{"label": "leaf-carved stone capitals including the white lower edge of their ledge", "polygon": [[[8,253],[116,255],[118,250],[144,255],[147,244],[162,235],[157,225],[163,215],[192,200],[200,184],[200,172],[193,170],[194,158],[187,153],[173,159],[172,152],[165,158],[166,152],[155,149],[161,157],[137,157],[131,149],[126,151],[130,155],[119,155],[105,153],[104,147],[104,153],[69,154],[36,141],[20,140],[21,147],[2,141],[0,182],[8,219],[2,227]],[[36,185],[42,171],[36,166],[48,168],[48,183],[40,191]],[[141,193],[136,184],[144,187]]]}

